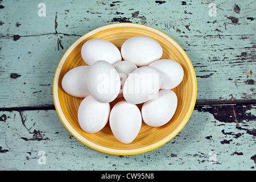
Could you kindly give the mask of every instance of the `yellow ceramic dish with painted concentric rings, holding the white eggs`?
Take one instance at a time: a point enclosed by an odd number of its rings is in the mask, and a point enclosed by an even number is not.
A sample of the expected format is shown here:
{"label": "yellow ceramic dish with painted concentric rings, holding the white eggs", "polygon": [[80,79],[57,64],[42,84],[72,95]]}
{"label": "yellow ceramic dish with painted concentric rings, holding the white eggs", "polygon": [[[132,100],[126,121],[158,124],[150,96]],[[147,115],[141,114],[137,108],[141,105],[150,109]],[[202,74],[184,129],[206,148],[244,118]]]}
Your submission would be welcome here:
{"label": "yellow ceramic dish with painted concentric rings, holding the white eggs", "polygon": [[[144,122],[137,138],[130,144],[122,144],[115,139],[109,123],[94,134],[85,133],[77,119],[77,110],[82,98],[72,97],[65,93],[61,80],[70,69],[86,65],[81,57],[81,47],[89,39],[100,38],[109,40],[119,49],[123,42],[131,36],[144,35],[155,39],[163,48],[162,59],[172,59],[181,64],[184,69],[184,78],[179,86],[172,89],[178,98],[177,110],[174,117],[166,125],[150,127]],[[81,36],[68,48],[61,58],[53,79],[53,101],[57,114],[67,130],[86,146],[95,150],[115,155],[141,154],[162,146],[185,126],[192,114],[196,102],[197,82],[193,65],[189,57],[170,36],[155,28],[137,23],[115,23],[96,28]],[[117,100],[111,103],[111,106]],[[138,105],[141,107],[141,105]]]}

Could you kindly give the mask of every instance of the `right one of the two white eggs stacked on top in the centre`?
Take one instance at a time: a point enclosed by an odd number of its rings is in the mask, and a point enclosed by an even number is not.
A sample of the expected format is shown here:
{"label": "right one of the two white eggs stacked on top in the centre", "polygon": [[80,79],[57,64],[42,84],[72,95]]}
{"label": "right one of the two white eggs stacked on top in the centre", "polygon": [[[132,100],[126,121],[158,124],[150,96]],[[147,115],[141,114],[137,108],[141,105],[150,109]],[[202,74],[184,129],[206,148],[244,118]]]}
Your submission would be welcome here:
{"label": "right one of the two white eggs stacked on top in the centre", "polygon": [[131,104],[141,104],[153,98],[161,86],[159,71],[154,67],[144,66],[135,69],[123,85],[123,97]]}

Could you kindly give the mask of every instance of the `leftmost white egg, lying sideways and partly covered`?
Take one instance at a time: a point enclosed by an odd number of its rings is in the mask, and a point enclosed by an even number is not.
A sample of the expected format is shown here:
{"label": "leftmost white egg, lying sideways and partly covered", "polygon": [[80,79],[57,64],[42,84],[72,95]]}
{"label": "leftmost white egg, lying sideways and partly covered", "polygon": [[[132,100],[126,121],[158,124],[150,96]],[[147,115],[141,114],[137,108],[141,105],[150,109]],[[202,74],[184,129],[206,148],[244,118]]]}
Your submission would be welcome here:
{"label": "leftmost white egg, lying sideways and partly covered", "polygon": [[61,86],[65,92],[74,97],[89,96],[90,93],[86,82],[89,68],[89,66],[80,66],[65,73],[61,80]]}

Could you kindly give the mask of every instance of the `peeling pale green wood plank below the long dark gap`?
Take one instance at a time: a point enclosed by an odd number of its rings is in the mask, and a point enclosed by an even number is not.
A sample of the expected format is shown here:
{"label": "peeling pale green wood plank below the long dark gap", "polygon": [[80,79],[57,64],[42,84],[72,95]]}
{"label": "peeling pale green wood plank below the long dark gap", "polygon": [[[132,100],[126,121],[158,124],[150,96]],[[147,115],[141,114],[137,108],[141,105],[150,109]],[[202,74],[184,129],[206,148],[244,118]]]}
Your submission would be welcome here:
{"label": "peeling pale green wood plank below the long dark gap", "polygon": [[[256,105],[196,106],[170,142],[144,154],[115,156],[72,137],[55,110],[0,111],[0,168],[255,171],[255,121]],[[45,164],[38,163],[39,151],[46,153]]]}

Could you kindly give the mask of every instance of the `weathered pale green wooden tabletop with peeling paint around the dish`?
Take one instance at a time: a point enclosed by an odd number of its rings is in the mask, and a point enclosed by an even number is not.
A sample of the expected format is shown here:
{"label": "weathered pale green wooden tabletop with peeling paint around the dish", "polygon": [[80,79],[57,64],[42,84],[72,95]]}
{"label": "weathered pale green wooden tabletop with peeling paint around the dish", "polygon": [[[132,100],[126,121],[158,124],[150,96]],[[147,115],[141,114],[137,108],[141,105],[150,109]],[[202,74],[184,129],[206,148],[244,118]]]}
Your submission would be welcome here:
{"label": "weathered pale green wooden tabletop with peeling paint around the dish", "polygon": [[[46,16],[39,16],[46,5]],[[0,169],[254,170],[256,168],[256,2],[0,2]],[[81,35],[118,22],[146,24],[187,52],[197,102],[170,142],[115,156],[76,140],[57,116],[52,81],[61,56]],[[43,151],[40,152],[40,151]],[[46,160],[43,160],[46,159]]]}

